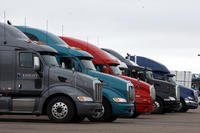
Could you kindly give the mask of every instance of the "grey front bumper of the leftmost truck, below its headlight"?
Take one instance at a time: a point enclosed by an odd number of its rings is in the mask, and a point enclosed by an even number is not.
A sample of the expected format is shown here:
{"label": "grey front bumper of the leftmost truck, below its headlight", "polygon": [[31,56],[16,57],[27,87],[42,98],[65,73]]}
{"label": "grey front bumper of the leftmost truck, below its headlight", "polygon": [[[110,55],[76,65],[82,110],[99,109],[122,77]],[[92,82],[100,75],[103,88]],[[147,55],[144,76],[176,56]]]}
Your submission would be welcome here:
{"label": "grey front bumper of the leftmost truck, below its headlight", "polygon": [[76,102],[77,115],[92,116],[102,111],[102,103]]}

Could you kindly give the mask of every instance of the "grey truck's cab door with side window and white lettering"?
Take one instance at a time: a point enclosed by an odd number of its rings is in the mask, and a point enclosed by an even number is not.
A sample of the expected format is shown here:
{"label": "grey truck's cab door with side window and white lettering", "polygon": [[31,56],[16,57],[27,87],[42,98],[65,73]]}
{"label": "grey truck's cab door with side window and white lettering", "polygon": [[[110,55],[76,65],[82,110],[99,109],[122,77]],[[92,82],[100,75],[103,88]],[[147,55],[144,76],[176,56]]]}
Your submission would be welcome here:
{"label": "grey truck's cab door with side window and white lettering", "polygon": [[42,77],[34,70],[31,52],[17,52],[16,93],[21,96],[39,96],[42,91]]}

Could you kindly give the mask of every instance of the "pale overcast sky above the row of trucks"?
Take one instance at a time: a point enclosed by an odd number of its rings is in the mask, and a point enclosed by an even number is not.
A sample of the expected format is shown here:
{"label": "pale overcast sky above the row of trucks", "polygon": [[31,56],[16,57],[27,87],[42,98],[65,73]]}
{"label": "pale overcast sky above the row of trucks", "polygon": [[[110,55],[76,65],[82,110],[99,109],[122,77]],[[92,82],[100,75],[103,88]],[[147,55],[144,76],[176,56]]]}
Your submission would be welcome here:
{"label": "pale overcast sky above the row of trucks", "polygon": [[199,0],[0,0],[14,25],[46,29],[200,73]]}

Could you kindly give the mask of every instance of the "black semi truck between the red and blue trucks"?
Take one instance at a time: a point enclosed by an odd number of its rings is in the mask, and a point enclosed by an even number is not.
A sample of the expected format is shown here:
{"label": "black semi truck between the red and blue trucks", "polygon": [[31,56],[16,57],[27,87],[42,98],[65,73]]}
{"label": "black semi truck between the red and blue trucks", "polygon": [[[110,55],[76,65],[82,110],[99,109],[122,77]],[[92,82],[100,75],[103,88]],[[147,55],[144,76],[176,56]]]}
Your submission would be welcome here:
{"label": "black semi truck between the red and blue trucks", "polygon": [[133,78],[139,78],[149,84],[155,86],[156,100],[155,110],[153,113],[165,113],[176,109],[179,106],[180,91],[178,88],[166,81],[154,79],[151,69],[141,67],[131,60],[125,59],[122,55],[112,49],[103,48],[113,56],[117,57],[120,61],[126,63],[128,68],[124,69],[124,74]]}

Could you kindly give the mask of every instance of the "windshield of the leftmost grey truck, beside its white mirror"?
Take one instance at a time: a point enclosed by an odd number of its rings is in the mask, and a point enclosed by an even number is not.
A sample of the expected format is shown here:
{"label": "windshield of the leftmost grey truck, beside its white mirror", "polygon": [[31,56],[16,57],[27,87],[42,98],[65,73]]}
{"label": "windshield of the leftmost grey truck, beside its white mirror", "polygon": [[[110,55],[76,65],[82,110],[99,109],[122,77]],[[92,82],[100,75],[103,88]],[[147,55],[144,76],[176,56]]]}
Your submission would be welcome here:
{"label": "windshield of the leftmost grey truck, beside its white mirror", "polygon": [[56,67],[59,67],[59,64],[56,60],[56,57],[55,55],[52,55],[52,54],[42,54],[42,57],[44,58],[44,61],[45,63],[48,65],[48,66],[56,66]]}

